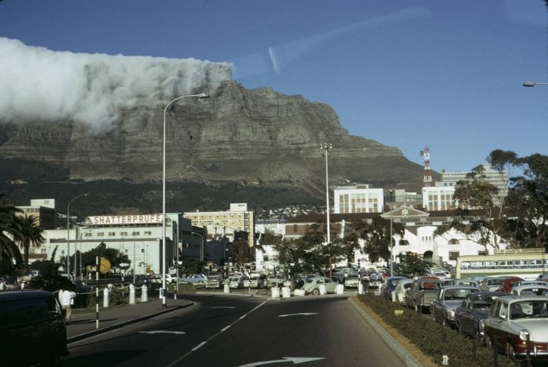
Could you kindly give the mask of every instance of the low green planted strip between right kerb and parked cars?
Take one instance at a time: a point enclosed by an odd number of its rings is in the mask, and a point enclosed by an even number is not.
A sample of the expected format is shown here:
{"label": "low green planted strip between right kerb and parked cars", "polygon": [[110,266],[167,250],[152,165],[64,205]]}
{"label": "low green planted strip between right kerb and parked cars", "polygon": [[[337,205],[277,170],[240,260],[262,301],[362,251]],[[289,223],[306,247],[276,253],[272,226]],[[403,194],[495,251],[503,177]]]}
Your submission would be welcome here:
{"label": "low green planted strip between right kerb and parked cars", "polygon": [[[420,315],[412,309],[404,309],[403,315],[395,316],[395,309],[401,309],[385,298],[364,294],[359,296],[365,303],[384,320],[387,324],[397,329],[401,335],[406,336],[413,344],[416,344],[423,353],[431,356],[437,364],[442,364],[443,355],[449,357],[451,367],[490,367],[493,366],[493,350],[486,346],[476,344],[475,364],[473,362],[473,340],[464,338],[456,330],[443,327],[434,322],[429,314]],[[506,355],[498,355],[500,367],[514,367]]]}

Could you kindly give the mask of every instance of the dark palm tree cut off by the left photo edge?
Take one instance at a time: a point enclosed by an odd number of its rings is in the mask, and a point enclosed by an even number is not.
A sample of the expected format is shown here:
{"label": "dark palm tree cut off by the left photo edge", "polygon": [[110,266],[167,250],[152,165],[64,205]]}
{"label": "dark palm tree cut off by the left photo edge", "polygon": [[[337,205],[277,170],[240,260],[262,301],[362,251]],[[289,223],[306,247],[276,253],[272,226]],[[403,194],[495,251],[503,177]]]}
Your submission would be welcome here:
{"label": "dark palm tree cut off by the left photo edge", "polygon": [[[0,194],[0,198],[3,196]],[[16,213],[21,213],[21,210],[8,202],[0,202],[0,259],[11,263],[21,263],[22,260],[16,245],[16,239],[22,236]]]}

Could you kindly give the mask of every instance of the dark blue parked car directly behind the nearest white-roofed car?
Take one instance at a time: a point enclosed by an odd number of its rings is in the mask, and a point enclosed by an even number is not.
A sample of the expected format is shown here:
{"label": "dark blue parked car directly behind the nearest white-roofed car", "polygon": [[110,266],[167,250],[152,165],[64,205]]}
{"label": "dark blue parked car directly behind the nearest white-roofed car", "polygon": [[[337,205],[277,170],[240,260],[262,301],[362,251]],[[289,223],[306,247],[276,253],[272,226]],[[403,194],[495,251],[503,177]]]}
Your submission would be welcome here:
{"label": "dark blue parked car directly behind the nearest white-roofed car", "polygon": [[478,340],[484,338],[484,320],[489,316],[493,301],[505,292],[472,292],[466,294],[462,304],[455,309],[455,326],[459,333]]}

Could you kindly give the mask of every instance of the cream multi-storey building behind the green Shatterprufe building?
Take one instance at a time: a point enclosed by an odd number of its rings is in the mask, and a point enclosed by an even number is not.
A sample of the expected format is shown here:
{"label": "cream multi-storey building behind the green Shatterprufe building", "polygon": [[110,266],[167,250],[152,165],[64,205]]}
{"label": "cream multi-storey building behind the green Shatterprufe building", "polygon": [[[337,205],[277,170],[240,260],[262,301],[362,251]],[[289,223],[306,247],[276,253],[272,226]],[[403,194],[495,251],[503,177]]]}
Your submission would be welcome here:
{"label": "cream multi-storey building behind the green Shatterprufe building", "polygon": [[227,237],[234,241],[236,231],[247,232],[247,243],[254,246],[255,222],[253,212],[247,210],[247,204],[230,204],[229,211],[195,211],[184,213],[192,221],[192,226],[206,227],[212,238]]}

